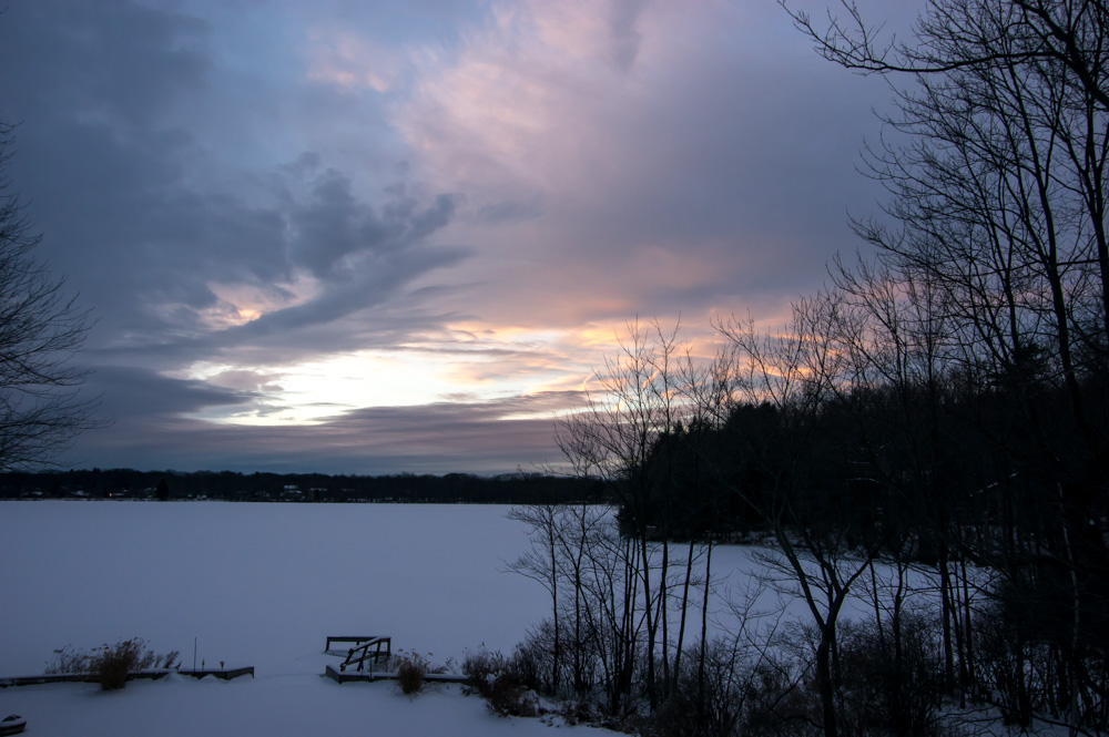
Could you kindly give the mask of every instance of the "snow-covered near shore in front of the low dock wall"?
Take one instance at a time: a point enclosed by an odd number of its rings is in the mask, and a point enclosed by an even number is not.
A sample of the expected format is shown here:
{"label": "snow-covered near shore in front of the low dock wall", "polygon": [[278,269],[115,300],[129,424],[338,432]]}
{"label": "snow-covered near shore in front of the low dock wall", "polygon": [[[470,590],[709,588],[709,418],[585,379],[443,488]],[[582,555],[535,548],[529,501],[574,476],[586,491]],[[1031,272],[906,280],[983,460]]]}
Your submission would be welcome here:
{"label": "snow-covered near shore in front of the low dock wall", "polygon": [[[28,734],[83,735],[549,735],[538,719],[502,719],[458,686],[415,698],[388,682],[343,684],[316,674],[232,682],[171,675],[121,692],[58,684],[0,692],[0,708],[28,717]],[[563,727],[566,729],[566,727]],[[590,733],[596,734],[596,733]]]}

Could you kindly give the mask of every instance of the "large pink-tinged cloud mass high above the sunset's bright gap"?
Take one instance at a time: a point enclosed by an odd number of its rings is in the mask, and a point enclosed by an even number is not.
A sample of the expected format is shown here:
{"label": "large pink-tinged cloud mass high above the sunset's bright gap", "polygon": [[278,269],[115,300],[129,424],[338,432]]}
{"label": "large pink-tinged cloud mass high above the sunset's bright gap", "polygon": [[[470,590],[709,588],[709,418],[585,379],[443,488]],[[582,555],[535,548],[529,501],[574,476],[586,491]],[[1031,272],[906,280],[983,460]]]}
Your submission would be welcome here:
{"label": "large pink-tinged cloud mass high above the sunset's bright gap", "polygon": [[500,3],[466,38],[421,68],[396,121],[420,176],[466,195],[450,236],[476,256],[455,275],[497,285],[471,291],[479,321],[786,301],[851,243],[824,182],[855,176],[861,136],[836,144],[869,113],[820,89],[832,70],[781,9]]}

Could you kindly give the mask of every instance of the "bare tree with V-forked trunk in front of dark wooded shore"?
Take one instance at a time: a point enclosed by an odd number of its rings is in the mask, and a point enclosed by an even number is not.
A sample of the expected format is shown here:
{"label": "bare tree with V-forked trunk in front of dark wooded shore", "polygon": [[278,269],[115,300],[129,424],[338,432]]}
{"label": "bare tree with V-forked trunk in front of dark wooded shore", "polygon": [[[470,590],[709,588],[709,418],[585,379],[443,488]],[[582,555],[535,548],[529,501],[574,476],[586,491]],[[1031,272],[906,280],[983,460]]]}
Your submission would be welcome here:
{"label": "bare tree with V-forked trunk in front of dark wooded shore", "polygon": [[750,319],[718,325],[734,345],[735,366],[744,375],[737,397],[749,407],[772,408],[785,428],[773,455],[752,459],[771,479],[769,493],[756,498],[737,491],[774,533],[776,550],[763,556],[764,563],[787,588],[800,590],[816,627],[815,677],[827,737],[840,734],[834,658],[840,614],[882,547],[881,540],[859,534],[851,515],[830,514],[849,505],[849,498],[833,499],[813,484],[822,462],[814,452],[817,419],[859,379],[843,350],[852,317],[843,295],[828,290],[794,303],[793,319],[779,335],[760,332]]}

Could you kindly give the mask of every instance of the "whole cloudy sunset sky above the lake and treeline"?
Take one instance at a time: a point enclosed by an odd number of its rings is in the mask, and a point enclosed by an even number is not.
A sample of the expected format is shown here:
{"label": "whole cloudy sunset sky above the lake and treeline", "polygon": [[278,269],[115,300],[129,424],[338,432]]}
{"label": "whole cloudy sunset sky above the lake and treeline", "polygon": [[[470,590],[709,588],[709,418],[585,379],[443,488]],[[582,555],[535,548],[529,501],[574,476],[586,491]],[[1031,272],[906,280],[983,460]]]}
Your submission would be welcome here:
{"label": "whole cloudy sunset sky above the lake and treeline", "polygon": [[62,468],[531,471],[630,321],[780,325],[883,195],[888,88],[773,0],[13,0],[0,69]]}

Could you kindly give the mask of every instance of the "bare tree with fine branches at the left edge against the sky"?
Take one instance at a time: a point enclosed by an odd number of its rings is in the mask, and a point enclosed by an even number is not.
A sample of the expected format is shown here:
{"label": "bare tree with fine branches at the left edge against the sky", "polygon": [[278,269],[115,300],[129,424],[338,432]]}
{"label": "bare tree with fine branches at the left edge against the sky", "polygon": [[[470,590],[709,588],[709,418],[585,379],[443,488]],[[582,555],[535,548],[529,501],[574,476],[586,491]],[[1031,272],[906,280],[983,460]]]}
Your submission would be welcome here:
{"label": "bare tree with fine branches at the left edge against the sky", "polygon": [[0,123],[0,470],[49,464],[80,431],[95,427],[95,402],[78,396],[88,371],[73,355],[89,315],[65,296],[33,252],[41,236],[11,181],[12,126]]}

